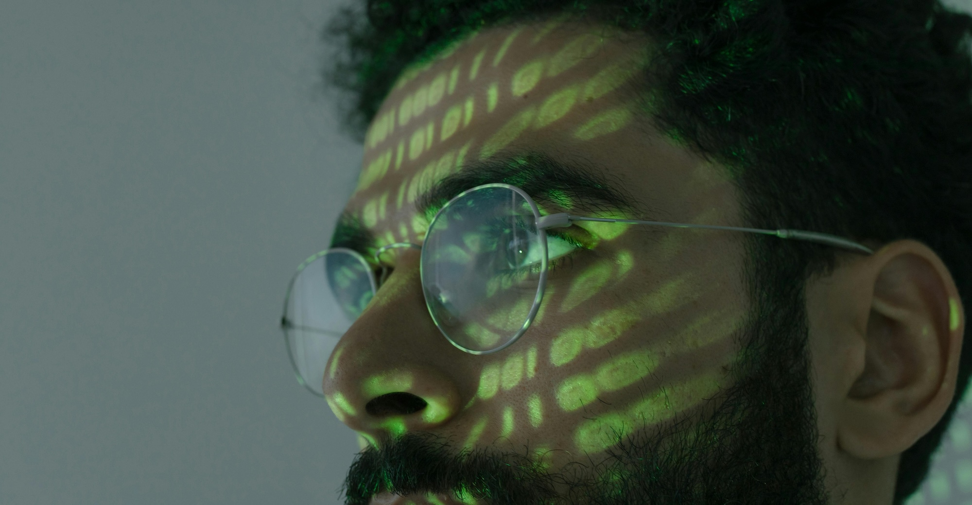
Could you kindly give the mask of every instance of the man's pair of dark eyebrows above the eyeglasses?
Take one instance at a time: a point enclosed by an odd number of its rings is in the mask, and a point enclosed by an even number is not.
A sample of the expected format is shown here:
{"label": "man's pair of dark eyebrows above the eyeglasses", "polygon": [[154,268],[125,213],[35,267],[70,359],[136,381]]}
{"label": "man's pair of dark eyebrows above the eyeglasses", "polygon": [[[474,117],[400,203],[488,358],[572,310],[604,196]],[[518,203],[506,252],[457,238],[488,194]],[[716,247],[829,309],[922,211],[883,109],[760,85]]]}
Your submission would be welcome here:
{"label": "man's pair of dark eyebrows above the eyeglasses", "polygon": [[[515,185],[538,204],[572,213],[609,213],[643,216],[642,202],[629,193],[623,181],[605,167],[580,156],[553,158],[545,152],[501,152],[465,163],[456,173],[435,182],[415,199],[415,210],[427,221],[459,193],[491,183]],[[348,248],[369,257],[377,249],[374,234],[361,219],[345,211],[338,219],[331,248]]]}

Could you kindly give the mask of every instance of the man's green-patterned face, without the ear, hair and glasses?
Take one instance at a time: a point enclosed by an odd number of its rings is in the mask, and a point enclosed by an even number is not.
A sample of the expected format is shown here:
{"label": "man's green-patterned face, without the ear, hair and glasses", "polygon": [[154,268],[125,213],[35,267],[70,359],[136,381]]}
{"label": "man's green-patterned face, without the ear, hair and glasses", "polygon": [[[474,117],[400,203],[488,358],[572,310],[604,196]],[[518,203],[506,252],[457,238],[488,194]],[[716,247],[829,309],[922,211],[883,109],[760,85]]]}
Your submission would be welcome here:
{"label": "man's green-patterned face, without the ear, hair and glasses", "polygon": [[[595,25],[494,28],[406,73],[368,131],[345,223],[364,228],[372,248],[421,245],[430,214],[417,204],[451,178],[458,190],[522,187],[541,214],[742,225],[718,168],[636,117],[645,44]],[[741,437],[758,441],[767,429],[807,464],[783,477],[760,453],[764,482],[813,488],[813,439],[797,401],[806,391],[784,391],[800,416],[783,421],[754,413],[760,402],[739,393],[739,364],[756,362],[741,351],[769,331],[748,319],[745,238],[593,221],[551,230],[556,267],[538,317],[512,346],[482,355],[451,345],[430,318],[419,251],[383,254],[391,274],[324,376],[335,415],[369,446],[349,475],[349,503],[380,490],[411,492],[374,503],[677,502],[753,460]],[[724,494],[746,492],[757,491]]]}

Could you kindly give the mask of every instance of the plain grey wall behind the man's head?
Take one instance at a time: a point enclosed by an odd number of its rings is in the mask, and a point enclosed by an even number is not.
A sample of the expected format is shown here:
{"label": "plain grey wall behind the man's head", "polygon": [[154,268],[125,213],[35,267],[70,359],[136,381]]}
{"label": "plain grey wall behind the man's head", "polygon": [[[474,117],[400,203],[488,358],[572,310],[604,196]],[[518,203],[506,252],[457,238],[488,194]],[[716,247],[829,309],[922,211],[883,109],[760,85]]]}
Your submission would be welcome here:
{"label": "plain grey wall behind the man's head", "polygon": [[[338,503],[354,434],[276,326],[361,161],[335,4],[3,2],[0,503]],[[972,503],[970,439],[916,501]]]}

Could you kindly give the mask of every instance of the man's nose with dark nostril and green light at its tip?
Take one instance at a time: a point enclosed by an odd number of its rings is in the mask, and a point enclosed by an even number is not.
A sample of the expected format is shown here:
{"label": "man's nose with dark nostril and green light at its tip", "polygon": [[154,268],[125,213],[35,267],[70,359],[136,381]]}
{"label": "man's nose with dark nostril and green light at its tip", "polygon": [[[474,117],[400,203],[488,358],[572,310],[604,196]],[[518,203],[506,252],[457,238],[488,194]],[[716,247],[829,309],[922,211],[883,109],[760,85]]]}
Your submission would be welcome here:
{"label": "man's nose with dark nostril and green light at its tip", "polygon": [[428,431],[462,405],[452,347],[429,316],[417,251],[402,251],[395,271],[341,337],[324,374],[337,418],[374,440]]}

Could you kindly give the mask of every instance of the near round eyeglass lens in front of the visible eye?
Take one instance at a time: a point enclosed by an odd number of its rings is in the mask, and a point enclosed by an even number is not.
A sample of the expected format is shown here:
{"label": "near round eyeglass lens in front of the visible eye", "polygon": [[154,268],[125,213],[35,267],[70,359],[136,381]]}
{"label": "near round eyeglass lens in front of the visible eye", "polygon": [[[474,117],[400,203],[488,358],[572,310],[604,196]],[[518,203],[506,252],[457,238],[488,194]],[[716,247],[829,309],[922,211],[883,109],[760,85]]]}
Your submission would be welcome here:
{"label": "near round eyeglass lens in front of the visible eye", "polygon": [[483,185],[446,204],[422,249],[422,286],[435,324],[473,354],[503,349],[536,315],[546,239],[536,205],[509,185]]}

